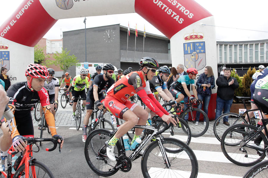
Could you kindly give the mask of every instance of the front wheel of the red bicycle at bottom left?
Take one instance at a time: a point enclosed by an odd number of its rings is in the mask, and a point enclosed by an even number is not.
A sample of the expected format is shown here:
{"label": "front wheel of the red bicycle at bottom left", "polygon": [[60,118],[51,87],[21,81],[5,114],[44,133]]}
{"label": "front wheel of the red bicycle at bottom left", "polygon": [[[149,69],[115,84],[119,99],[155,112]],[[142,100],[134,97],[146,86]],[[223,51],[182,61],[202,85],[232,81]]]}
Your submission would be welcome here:
{"label": "front wheel of the red bicycle at bottom left", "polygon": [[[22,164],[15,172],[13,178],[22,177],[25,175],[25,164]],[[52,172],[39,161],[32,160],[32,164],[29,165],[29,177],[50,177],[54,178]]]}

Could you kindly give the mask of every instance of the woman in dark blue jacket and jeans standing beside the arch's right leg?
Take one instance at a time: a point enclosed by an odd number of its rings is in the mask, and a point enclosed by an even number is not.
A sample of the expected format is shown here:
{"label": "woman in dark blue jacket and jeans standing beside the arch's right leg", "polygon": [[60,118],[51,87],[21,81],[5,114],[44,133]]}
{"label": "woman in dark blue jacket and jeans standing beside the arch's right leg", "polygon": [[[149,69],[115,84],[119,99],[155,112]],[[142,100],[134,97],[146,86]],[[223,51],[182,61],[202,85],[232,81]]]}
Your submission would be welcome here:
{"label": "woman in dark blue jacket and jeans standing beside the arch's right leg", "polygon": [[[211,96],[211,88],[215,87],[215,78],[211,66],[206,66],[204,73],[200,74],[197,82],[197,96],[198,99],[204,103],[204,112],[208,115],[208,104]],[[199,109],[202,109],[202,103],[198,105]],[[200,112],[196,113],[196,123],[198,125],[200,118]],[[206,125],[206,120],[204,120],[203,125]]]}

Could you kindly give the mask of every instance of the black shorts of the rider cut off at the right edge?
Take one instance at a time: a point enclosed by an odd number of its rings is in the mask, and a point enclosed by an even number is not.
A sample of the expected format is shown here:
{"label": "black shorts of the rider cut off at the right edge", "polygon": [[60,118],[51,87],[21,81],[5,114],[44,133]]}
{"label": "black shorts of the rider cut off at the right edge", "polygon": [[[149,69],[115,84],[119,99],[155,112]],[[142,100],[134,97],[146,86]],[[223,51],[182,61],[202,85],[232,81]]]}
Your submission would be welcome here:
{"label": "black shorts of the rider cut off at the right edge", "polygon": [[267,115],[268,114],[268,90],[256,88],[253,95],[253,100],[261,108],[261,111]]}

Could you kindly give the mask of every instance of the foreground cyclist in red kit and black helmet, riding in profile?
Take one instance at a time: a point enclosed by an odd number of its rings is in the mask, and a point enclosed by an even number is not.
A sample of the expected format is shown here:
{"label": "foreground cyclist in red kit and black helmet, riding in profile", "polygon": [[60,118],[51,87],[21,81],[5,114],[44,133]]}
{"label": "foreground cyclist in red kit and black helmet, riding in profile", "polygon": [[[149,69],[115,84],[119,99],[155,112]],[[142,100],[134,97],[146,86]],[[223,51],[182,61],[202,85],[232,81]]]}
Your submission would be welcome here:
{"label": "foreground cyclist in red kit and black helmet, riding in profile", "polygon": [[[154,98],[149,87],[148,80],[152,80],[156,69],[159,68],[158,62],[153,58],[144,57],[141,59],[139,65],[141,66],[140,71],[133,71],[121,78],[109,88],[105,97],[105,107],[113,113],[113,115],[126,121],[118,128],[116,134],[106,145],[107,156],[112,161],[116,160],[114,156],[114,146],[118,138],[126,134],[127,131],[136,124],[146,125],[148,112],[137,104],[127,100],[127,98],[133,96],[135,93],[138,94],[150,110],[162,117],[163,121],[168,124],[172,122],[174,125],[177,123]],[[143,129],[135,129],[132,143],[141,135],[142,131]]]}

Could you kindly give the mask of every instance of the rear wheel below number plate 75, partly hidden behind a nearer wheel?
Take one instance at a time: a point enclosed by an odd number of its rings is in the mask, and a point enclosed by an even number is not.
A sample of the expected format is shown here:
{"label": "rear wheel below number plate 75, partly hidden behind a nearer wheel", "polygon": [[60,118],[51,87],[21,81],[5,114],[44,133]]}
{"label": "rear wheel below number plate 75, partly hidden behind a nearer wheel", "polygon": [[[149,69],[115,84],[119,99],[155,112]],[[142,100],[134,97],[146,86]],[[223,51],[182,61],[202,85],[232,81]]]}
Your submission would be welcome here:
{"label": "rear wheel below number plate 75, partly hidden behind a nearer wheel", "polygon": [[[244,117],[240,117],[236,113],[225,113],[223,115],[220,115],[214,122],[213,126],[213,132],[216,138],[221,141],[223,133],[230,127],[223,123],[223,118],[228,119],[228,122],[230,126],[234,124],[242,124],[247,123],[247,121],[244,119]],[[222,122],[220,122],[222,120]],[[218,125],[217,125],[218,123]]]}

